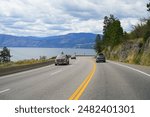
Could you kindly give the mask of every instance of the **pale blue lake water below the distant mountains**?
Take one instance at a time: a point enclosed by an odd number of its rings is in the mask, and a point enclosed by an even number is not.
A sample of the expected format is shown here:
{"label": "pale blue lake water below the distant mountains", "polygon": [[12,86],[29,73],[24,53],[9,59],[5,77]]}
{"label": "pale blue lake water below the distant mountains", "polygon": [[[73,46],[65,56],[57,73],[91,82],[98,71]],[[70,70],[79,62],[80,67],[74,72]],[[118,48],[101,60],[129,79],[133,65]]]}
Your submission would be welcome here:
{"label": "pale blue lake water below the distant mountains", "polygon": [[47,58],[57,56],[61,52],[64,54],[77,55],[95,55],[93,49],[71,49],[71,48],[9,48],[12,55],[12,61],[24,60],[24,59],[39,59],[40,56],[46,56]]}

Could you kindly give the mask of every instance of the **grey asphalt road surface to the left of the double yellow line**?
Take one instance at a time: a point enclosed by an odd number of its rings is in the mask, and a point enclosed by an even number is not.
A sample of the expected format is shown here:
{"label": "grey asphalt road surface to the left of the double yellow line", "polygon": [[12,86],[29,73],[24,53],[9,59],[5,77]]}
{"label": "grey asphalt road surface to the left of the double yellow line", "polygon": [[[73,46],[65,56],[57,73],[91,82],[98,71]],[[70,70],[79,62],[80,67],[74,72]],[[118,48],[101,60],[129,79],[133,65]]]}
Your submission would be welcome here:
{"label": "grey asphalt road surface to the left of the double yellow line", "polygon": [[[91,58],[0,77],[0,99],[68,99],[92,69]],[[8,90],[9,89],[9,90]]]}

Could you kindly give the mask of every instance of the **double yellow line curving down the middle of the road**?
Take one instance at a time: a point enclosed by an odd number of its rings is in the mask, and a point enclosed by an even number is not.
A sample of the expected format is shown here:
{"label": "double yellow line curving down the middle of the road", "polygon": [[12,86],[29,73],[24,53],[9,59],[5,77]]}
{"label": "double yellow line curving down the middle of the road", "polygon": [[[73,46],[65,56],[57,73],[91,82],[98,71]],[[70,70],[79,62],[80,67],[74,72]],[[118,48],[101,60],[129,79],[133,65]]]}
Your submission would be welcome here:
{"label": "double yellow line curving down the middle of the road", "polygon": [[77,88],[77,90],[70,96],[69,100],[78,100],[81,95],[83,94],[84,90],[88,86],[89,82],[91,81],[94,73],[96,71],[96,63],[93,61],[93,68],[86,79],[82,82],[82,84]]}

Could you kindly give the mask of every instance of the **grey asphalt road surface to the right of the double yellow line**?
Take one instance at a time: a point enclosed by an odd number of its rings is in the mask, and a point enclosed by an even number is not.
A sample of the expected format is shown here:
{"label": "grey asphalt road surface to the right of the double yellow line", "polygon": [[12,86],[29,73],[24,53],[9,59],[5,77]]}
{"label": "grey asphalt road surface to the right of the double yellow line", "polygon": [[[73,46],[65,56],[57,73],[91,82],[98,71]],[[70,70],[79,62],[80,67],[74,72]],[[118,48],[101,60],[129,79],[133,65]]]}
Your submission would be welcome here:
{"label": "grey asphalt road surface to the right of the double yellow line", "polygon": [[[122,66],[126,65],[126,66]],[[128,68],[131,67],[131,68]],[[132,68],[136,68],[135,70]],[[97,63],[96,73],[80,99],[89,100],[146,100],[150,99],[150,67],[108,61]]]}

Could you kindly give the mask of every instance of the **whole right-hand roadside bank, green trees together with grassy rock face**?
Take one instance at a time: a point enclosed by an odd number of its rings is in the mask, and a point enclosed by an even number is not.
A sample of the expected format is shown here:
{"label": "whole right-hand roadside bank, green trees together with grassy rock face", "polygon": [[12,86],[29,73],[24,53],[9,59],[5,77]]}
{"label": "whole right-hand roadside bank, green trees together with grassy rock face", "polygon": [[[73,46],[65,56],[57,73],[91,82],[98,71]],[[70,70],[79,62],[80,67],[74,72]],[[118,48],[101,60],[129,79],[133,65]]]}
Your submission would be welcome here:
{"label": "whole right-hand roadside bank, green trees together with grassy rock face", "polygon": [[[147,4],[150,13],[150,2]],[[95,50],[107,59],[150,65],[150,18],[143,18],[129,33],[114,15],[104,17],[103,37],[97,35]]]}

